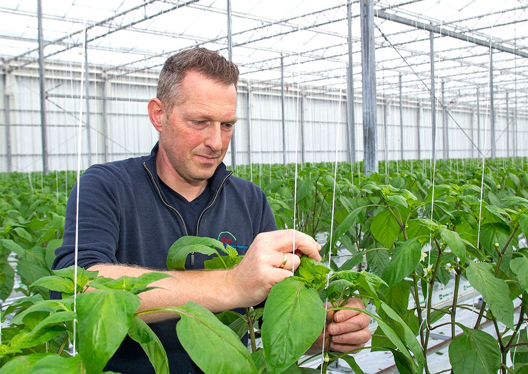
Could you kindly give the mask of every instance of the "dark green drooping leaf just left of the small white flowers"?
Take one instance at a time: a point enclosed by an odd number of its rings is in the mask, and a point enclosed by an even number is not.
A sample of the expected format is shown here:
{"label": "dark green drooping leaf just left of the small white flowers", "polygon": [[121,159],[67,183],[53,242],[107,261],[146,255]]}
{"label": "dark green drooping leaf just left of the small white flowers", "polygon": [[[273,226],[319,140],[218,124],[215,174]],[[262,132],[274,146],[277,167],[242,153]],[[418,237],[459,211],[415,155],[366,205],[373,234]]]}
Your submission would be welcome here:
{"label": "dark green drooping leaf just left of the small white flowers", "polygon": [[418,241],[410,239],[398,242],[392,259],[383,270],[382,278],[389,287],[407,277],[420,262],[422,249]]}

